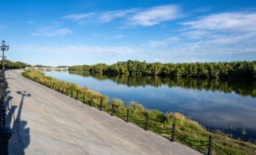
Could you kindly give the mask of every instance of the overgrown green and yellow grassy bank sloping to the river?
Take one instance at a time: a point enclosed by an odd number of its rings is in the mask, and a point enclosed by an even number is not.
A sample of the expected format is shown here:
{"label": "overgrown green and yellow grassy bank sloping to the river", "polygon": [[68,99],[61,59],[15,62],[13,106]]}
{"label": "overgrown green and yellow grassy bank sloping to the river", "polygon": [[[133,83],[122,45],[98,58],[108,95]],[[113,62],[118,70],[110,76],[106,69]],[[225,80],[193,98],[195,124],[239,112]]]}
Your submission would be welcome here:
{"label": "overgrown green and yellow grassy bank sloping to the river", "polygon": [[[212,137],[212,154],[256,153],[255,144],[228,138],[227,135],[208,132],[205,127],[196,121],[187,119],[187,117],[179,113],[163,114],[161,111],[143,108],[143,105],[136,102],[130,102],[129,106],[125,106],[120,99],[109,101],[107,96],[88,90],[88,88],[78,87],[76,84],[47,77],[39,71],[25,71],[23,76],[123,120],[128,119],[129,122],[143,129],[156,132],[165,138],[174,138],[174,141],[186,144],[202,153],[207,153],[208,151],[208,138],[210,135]],[[175,127],[173,128],[174,125]]]}

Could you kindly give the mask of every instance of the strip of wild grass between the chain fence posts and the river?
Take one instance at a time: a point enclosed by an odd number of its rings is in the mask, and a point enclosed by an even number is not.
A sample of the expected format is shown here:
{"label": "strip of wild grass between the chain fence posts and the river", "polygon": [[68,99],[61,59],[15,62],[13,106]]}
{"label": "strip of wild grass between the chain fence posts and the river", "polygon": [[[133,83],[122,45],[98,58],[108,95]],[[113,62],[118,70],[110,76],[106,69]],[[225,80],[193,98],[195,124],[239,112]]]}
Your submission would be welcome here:
{"label": "strip of wild grass between the chain fence posts and the river", "polygon": [[[120,115],[125,114],[127,109],[129,109],[129,112],[132,114],[132,116],[136,117],[137,120],[145,120],[146,116],[148,115],[152,121],[152,126],[149,126],[148,129],[152,130],[153,132],[159,132],[156,131],[156,128],[159,128],[163,131],[163,129],[171,129],[172,124],[176,124],[177,132],[180,132],[182,135],[186,135],[187,138],[190,138],[190,140],[183,141],[182,138],[176,138],[177,141],[180,141],[181,143],[187,144],[190,147],[193,147],[197,150],[201,150],[202,152],[205,152],[207,150],[207,147],[199,148],[193,145],[199,145],[198,142],[193,141],[207,141],[208,136],[213,136],[214,141],[214,147],[220,147],[221,150],[224,150],[224,152],[231,153],[231,154],[254,154],[255,152],[255,146],[254,144],[249,144],[247,142],[233,140],[231,138],[228,138],[226,135],[218,135],[211,132],[206,131],[206,129],[199,125],[199,123],[196,123],[193,120],[189,120],[186,117],[184,117],[182,114],[177,113],[171,113],[171,114],[162,114],[159,111],[155,110],[148,110],[143,108],[142,105],[138,105],[137,103],[131,102],[131,106],[125,107],[123,105],[123,102],[116,99],[112,102],[108,101],[107,96],[103,96],[100,93],[95,93],[88,89],[83,89],[78,87],[76,84],[69,84],[65,81],[58,81],[57,79],[45,77],[44,74],[38,72],[38,71],[28,71],[23,74],[27,78],[30,78],[34,81],[40,81],[43,84],[47,84],[48,87],[53,87],[55,90],[59,90],[60,92],[66,92],[66,90],[69,90],[68,94],[69,96],[73,96],[76,98],[76,93],[79,93],[79,96],[77,97],[78,100],[85,102],[85,104],[88,105],[100,105],[100,102],[103,103],[103,108],[105,109],[111,109],[112,105],[114,105],[116,109],[116,113],[120,113]],[[85,101],[83,100],[83,94],[85,94]],[[118,112],[117,112],[118,111]],[[111,111],[109,111],[111,113]],[[119,116],[120,116],[119,115]],[[123,118],[123,116],[121,116]],[[132,121],[132,120],[131,120]],[[140,123],[136,123],[136,121],[132,122],[140,126]],[[144,127],[144,123],[141,127]],[[161,134],[167,138],[171,137],[171,133],[167,134]]]}

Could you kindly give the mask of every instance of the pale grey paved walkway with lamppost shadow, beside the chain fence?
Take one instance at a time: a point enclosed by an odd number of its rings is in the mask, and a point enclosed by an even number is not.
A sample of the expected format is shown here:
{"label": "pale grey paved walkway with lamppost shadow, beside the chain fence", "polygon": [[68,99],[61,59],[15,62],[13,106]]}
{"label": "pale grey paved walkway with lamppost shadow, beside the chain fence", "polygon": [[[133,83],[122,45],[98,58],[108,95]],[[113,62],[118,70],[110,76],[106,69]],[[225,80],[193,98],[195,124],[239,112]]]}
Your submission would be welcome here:
{"label": "pale grey paved walkway with lamppost shadow, beside the chain fence", "polygon": [[6,71],[10,154],[200,154]]}

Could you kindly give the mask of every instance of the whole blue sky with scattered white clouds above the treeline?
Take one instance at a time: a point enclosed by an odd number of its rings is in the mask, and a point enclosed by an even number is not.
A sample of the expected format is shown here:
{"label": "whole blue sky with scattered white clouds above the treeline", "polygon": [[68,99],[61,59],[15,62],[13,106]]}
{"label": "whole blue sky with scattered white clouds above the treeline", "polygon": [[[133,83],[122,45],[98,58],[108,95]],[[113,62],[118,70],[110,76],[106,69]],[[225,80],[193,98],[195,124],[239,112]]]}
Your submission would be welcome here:
{"label": "whole blue sky with scattered white clouds above the treeline", "polygon": [[0,39],[32,65],[256,59],[256,0],[0,0]]}

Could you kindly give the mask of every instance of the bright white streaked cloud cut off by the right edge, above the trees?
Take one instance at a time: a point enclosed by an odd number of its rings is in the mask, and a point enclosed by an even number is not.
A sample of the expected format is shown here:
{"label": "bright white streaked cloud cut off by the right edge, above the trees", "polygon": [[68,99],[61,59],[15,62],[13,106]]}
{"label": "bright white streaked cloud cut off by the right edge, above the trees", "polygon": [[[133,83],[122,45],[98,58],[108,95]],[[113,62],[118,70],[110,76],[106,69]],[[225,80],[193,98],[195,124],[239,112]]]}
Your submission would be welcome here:
{"label": "bright white streaked cloud cut off by the right edge, above the trees", "polygon": [[256,31],[256,12],[212,14],[183,23],[190,29],[224,30],[232,32]]}

